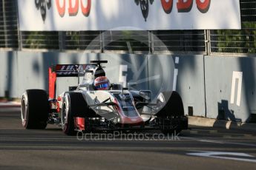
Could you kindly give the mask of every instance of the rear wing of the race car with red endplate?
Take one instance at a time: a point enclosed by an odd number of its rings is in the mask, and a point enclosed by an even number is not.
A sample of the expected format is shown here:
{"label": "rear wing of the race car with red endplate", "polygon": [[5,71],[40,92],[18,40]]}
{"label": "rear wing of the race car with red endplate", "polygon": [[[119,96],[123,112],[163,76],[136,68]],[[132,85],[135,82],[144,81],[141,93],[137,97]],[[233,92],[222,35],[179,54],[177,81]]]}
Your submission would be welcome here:
{"label": "rear wing of the race car with red endplate", "polygon": [[56,81],[59,77],[78,77],[79,72],[83,72],[88,67],[95,67],[95,64],[57,64],[49,67],[48,86],[49,98],[56,98]]}

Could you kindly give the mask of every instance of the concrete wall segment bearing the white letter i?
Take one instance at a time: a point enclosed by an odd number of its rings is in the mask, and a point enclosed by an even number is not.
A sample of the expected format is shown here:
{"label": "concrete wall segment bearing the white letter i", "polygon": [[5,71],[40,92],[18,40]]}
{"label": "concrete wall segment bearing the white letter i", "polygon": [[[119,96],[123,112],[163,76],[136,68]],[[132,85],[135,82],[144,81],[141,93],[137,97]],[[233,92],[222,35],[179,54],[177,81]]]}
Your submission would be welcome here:
{"label": "concrete wall segment bearing the white letter i", "polygon": [[157,81],[149,81],[150,89],[157,92],[154,95],[175,90],[183,98],[186,113],[191,106],[194,115],[206,115],[203,55],[149,55],[148,70],[149,78],[160,75]]}

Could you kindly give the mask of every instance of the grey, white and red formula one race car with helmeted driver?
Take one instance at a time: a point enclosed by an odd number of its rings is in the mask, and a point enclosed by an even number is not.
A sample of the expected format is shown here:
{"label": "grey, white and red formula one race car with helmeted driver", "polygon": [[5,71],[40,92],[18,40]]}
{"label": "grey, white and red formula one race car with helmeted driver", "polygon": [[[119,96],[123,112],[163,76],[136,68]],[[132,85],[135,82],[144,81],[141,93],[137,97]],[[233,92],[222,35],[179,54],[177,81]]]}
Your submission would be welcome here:
{"label": "grey, white and red formula one race car with helmeted driver", "polygon": [[[102,63],[65,64],[49,68],[49,94],[27,89],[22,95],[22,125],[25,129],[45,129],[47,123],[62,126],[66,135],[76,132],[133,131],[159,129],[165,134],[188,129],[183,101],[177,92],[161,92],[151,101],[150,90],[129,90],[110,84]],[[78,77],[56,98],[59,77]]]}

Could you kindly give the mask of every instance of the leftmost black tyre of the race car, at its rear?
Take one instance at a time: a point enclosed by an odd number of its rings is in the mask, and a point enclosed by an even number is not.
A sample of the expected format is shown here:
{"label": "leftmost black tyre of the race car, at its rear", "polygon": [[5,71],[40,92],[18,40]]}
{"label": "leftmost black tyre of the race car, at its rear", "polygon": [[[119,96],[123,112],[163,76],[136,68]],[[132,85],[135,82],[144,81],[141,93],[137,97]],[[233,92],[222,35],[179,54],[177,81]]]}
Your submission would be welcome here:
{"label": "leftmost black tyre of the race car, at its rear", "polygon": [[49,110],[45,90],[27,89],[22,95],[22,126],[25,129],[45,129]]}

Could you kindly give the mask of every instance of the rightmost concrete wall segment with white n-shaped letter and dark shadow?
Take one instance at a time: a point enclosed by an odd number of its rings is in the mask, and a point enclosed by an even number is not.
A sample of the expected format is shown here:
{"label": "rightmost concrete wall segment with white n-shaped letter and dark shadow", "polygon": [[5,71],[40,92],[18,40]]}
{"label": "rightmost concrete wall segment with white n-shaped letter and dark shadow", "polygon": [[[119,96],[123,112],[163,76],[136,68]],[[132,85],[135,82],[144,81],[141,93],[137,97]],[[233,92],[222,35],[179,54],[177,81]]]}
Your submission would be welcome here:
{"label": "rightmost concrete wall segment with white n-shaped letter and dark shadow", "polygon": [[208,118],[249,121],[256,111],[256,58],[206,56]]}

